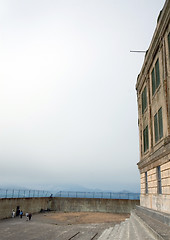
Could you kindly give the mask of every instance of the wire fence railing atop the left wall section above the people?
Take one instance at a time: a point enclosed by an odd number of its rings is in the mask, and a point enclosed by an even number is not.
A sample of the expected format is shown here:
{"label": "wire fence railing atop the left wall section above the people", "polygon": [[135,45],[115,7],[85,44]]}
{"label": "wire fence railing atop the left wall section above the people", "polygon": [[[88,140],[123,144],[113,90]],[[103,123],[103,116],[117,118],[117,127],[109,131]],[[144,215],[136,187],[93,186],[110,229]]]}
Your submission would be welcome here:
{"label": "wire fence railing atop the left wall section above the people", "polygon": [[36,198],[50,196],[50,192],[42,190],[0,189],[0,198]]}

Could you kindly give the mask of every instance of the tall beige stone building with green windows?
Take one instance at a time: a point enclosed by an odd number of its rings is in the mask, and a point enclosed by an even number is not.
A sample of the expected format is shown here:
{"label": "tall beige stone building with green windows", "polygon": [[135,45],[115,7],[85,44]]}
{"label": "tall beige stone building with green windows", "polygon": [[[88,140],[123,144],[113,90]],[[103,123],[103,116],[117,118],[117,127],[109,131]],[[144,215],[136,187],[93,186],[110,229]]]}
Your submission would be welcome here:
{"label": "tall beige stone building with green windows", "polygon": [[166,0],[136,83],[140,205],[170,213],[170,0]]}

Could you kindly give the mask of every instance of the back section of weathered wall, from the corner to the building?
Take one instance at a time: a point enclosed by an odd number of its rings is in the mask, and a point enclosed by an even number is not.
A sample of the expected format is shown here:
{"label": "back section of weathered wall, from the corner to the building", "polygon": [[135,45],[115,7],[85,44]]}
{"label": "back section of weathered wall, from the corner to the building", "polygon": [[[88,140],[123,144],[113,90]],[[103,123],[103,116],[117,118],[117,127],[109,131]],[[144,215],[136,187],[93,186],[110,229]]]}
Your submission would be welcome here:
{"label": "back section of weathered wall, from the corner to the building", "polygon": [[130,213],[136,205],[139,205],[139,200],[54,198],[52,209],[61,212]]}

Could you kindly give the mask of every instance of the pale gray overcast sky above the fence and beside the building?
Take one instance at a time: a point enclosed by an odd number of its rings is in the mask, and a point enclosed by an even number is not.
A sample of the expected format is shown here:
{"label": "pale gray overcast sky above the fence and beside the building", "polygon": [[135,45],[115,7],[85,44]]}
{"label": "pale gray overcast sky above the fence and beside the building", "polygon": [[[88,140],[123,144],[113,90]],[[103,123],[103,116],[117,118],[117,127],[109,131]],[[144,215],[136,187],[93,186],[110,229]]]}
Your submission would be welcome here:
{"label": "pale gray overcast sky above the fence and beside the building", "polygon": [[130,50],[147,50],[163,4],[0,0],[1,186],[139,191]]}

